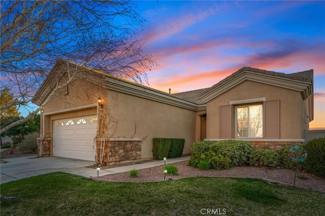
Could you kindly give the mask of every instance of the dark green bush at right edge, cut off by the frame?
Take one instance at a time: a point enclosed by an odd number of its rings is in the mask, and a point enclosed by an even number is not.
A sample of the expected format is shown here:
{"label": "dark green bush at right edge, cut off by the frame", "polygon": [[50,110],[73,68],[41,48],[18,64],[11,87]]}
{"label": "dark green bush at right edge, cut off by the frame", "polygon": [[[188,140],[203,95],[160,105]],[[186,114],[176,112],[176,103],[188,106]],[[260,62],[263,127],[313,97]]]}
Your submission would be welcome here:
{"label": "dark green bush at right edge, cut off by the frame", "polygon": [[325,137],[309,140],[303,147],[307,151],[306,170],[325,178]]}

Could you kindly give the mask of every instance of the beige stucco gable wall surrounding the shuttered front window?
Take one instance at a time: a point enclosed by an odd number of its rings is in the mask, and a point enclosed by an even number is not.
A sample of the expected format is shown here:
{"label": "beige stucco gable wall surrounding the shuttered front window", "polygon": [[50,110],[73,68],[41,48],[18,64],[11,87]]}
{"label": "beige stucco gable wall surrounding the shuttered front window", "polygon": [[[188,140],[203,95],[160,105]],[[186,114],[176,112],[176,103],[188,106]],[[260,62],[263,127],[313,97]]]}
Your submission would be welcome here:
{"label": "beige stucco gable wall surrounding the shuttered front window", "polygon": [[[264,97],[267,101],[280,101],[280,139],[303,138],[302,129],[305,125],[302,125],[304,120],[301,119],[304,112],[300,92],[253,81],[244,81],[207,102],[207,138],[219,138],[220,105],[229,105],[230,101]],[[234,118],[232,125],[235,126]],[[234,132],[232,136],[234,138]]]}

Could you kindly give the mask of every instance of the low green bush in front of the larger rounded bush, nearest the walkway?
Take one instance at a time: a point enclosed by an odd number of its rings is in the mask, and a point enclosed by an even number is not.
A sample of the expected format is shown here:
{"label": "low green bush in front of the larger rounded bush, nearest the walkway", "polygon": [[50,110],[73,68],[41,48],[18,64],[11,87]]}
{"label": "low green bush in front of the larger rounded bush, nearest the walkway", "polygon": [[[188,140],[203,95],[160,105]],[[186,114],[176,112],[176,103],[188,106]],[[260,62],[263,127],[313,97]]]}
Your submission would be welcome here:
{"label": "low green bush in front of the larger rounded bush, nearest the walkway", "polygon": [[232,166],[229,157],[216,155],[212,151],[191,156],[187,165],[198,167],[199,169],[207,169],[206,167],[209,165],[209,168],[216,170],[229,169]]}

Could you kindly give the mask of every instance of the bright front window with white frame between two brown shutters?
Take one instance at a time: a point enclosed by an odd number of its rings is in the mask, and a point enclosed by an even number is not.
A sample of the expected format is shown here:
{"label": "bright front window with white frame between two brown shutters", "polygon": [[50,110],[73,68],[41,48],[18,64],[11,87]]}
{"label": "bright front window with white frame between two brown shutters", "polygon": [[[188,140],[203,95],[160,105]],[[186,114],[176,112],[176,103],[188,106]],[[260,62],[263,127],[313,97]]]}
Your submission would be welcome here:
{"label": "bright front window with white frame between two brown shutters", "polygon": [[263,105],[236,107],[236,137],[263,137]]}

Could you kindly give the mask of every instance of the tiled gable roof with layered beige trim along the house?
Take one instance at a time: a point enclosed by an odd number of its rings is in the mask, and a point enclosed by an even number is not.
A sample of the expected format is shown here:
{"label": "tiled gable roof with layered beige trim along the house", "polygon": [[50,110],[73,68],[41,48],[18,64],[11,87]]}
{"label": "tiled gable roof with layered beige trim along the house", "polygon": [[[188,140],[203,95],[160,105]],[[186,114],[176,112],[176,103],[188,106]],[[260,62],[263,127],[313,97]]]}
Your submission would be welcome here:
{"label": "tiled gable roof with layered beige trim along the house", "polygon": [[[87,80],[89,82],[92,82],[93,79],[102,79],[105,81],[104,83],[106,84],[104,87],[107,89],[183,107],[193,111],[205,110],[206,103],[209,100],[217,97],[225,91],[228,91],[245,80],[294,89],[300,91],[304,99],[313,94],[312,69],[293,74],[284,74],[253,67],[242,67],[210,88],[170,94],[132,81],[127,81],[109,74],[105,74],[99,70],[59,59],[36,92],[35,96],[32,98],[31,101],[33,103],[39,106],[46,103],[46,100],[50,96],[51,92],[53,92],[55,89],[56,83],[62,74],[67,73],[66,69],[61,69],[63,65],[67,65],[68,67],[75,68],[76,70],[79,69],[82,72],[87,73]],[[98,82],[94,83],[98,84]],[[313,95],[311,97],[311,105],[312,107],[310,107],[310,110],[313,113]]]}

